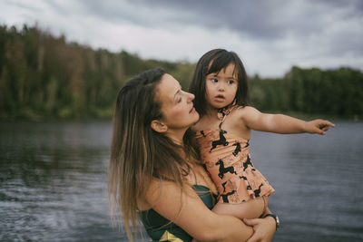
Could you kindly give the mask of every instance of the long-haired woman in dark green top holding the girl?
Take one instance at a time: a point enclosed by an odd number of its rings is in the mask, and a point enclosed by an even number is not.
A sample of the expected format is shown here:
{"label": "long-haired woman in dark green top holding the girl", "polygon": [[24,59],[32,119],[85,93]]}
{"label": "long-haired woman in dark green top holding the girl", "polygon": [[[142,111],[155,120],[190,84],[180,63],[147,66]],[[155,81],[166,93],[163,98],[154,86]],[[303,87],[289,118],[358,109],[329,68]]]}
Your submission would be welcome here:
{"label": "long-haired woman in dark green top holding the girl", "polygon": [[188,135],[199,120],[193,99],[161,69],[141,73],[123,86],[113,114],[113,212],[121,209],[130,240],[140,216],[154,241],[269,241],[276,228],[273,218],[247,221],[252,228],[210,210],[216,188]]}

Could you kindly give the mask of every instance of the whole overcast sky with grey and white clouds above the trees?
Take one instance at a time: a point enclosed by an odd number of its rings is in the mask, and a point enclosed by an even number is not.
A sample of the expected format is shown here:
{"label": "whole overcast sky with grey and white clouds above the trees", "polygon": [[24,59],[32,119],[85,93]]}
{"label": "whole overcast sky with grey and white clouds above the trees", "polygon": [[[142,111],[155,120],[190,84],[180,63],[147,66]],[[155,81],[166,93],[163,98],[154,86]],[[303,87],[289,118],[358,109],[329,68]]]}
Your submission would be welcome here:
{"label": "whole overcast sky with grey and white clouds above the trees", "polygon": [[0,0],[0,24],[167,61],[225,48],[262,77],[292,65],[363,71],[361,0]]}

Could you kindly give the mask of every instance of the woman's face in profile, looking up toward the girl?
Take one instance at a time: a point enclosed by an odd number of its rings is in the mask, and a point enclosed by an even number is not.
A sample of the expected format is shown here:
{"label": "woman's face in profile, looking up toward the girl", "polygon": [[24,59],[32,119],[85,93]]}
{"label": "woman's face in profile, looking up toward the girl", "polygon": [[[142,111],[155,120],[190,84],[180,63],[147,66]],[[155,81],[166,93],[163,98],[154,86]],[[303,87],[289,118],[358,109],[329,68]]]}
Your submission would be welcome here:
{"label": "woman's face in profile, looking up toward the girl", "polygon": [[181,84],[172,75],[162,76],[156,95],[162,103],[162,122],[168,126],[168,132],[186,131],[199,120],[192,102],[194,95],[182,91]]}

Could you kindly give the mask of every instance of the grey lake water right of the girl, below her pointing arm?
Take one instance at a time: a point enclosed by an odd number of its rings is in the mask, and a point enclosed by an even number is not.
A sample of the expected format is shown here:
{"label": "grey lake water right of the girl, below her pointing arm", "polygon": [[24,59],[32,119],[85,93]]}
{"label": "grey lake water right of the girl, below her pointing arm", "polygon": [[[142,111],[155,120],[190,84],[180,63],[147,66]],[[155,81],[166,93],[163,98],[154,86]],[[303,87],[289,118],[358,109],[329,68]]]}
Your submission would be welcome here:
{"label": "grey lake water right of the girl, below her pointing arm", "polygon": [[363,239],[363,123],[337,123],[325,136],[255,132],[251,142],[276,189],[270,208],[282,227],[274,241]]}

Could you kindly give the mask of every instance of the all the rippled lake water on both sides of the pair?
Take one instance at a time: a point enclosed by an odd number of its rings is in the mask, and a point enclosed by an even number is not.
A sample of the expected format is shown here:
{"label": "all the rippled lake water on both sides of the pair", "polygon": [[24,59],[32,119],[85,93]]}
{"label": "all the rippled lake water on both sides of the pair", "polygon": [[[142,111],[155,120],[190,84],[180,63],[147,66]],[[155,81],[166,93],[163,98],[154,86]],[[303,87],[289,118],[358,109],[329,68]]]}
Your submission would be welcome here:
{"label": "all the rippled lake water on both sides of the pair", "polygon": [[[253,132],[252,160],[276,193],[273,241],[363,240],[363,122],[327,135]],[[1,241],[127,241],[106,194],[112,124],[0,123]]]}

